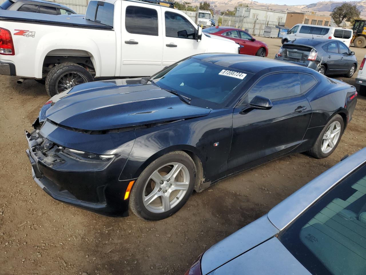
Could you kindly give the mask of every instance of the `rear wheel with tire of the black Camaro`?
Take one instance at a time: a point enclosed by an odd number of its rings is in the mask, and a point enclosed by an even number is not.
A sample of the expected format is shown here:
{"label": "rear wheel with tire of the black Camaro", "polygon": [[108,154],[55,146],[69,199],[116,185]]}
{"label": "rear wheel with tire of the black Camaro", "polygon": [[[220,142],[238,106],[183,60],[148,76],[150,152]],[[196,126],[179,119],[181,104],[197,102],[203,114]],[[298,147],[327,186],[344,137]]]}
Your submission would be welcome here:
{"label": "rear wheel with tire of the black Camaro", "polygon": [[308,153],[315,158],[326,158],[337,148],[343,135],[343,118],[336,114],[325,125],[313,148]]}

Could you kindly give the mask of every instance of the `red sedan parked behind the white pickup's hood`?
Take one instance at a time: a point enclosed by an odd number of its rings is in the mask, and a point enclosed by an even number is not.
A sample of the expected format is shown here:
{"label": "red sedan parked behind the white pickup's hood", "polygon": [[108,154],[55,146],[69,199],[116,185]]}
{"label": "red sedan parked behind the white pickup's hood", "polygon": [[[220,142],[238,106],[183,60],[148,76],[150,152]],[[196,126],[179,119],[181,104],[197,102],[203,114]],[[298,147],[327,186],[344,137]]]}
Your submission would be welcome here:
{"label": "red sedan parked behind the white pickup's hood", "polygon": [[240,54],[257,55],[262,57],[268,55],[268,45],[262,41],[255,40],[253,36],[244,30],[216,26],[205,28],[202,32],[225,37],[230,40],[234,40],[239,45],[243,45],[244,47],[240,48]]}

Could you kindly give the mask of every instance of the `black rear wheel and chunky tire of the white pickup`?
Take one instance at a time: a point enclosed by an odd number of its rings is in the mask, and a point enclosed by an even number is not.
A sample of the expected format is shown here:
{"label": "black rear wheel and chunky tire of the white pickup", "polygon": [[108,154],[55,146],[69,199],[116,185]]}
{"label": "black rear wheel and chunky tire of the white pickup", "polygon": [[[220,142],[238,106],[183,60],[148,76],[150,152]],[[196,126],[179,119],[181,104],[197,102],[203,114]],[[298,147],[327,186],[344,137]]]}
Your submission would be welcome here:
{"label": "black rear wheel and chunky tire of the white pickup", "polygon": [[47,74],[46,91],[52,97],[76,85],[93,80],[93,76],[82,66],[75,63],[61,63]]}

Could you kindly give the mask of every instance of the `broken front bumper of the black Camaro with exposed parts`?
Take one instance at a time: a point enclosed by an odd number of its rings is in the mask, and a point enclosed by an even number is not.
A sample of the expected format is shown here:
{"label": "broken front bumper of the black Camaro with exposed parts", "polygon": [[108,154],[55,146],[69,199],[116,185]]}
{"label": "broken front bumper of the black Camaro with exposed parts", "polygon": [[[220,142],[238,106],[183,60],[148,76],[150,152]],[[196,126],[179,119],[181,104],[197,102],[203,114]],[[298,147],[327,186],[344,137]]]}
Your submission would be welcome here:
{"label": "broken front bumper of the black Camaro with exposed parts", "polygon": [[61,146],[25,131],[34,181],[52,198],[106,216],[128,216],[124,200],[129,181],[118,181],[109,162],[83,161],[63,153]]}

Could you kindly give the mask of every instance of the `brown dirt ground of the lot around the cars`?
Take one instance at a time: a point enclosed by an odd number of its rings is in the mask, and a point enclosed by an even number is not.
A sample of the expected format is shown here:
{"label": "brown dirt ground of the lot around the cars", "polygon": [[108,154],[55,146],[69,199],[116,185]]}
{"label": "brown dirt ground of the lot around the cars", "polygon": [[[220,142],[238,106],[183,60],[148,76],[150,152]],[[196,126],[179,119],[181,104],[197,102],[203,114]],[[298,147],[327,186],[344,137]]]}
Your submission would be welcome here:
{"label": "brown dirt ground of the lot around the cars", "polygon": [[[280,40],[257,38],[273,58]],[[366,49],[351,49],[361,63]],[[352,122],[326,159],[296,154],[271,161],[194,193],[162,221],[104,217],[55,201],[33,181],[24,129],[48,96],[36,81],[16,80],[0,76],[0,274],[184,274],[214,243],[366,146],[366,98],[359,96]]]}

